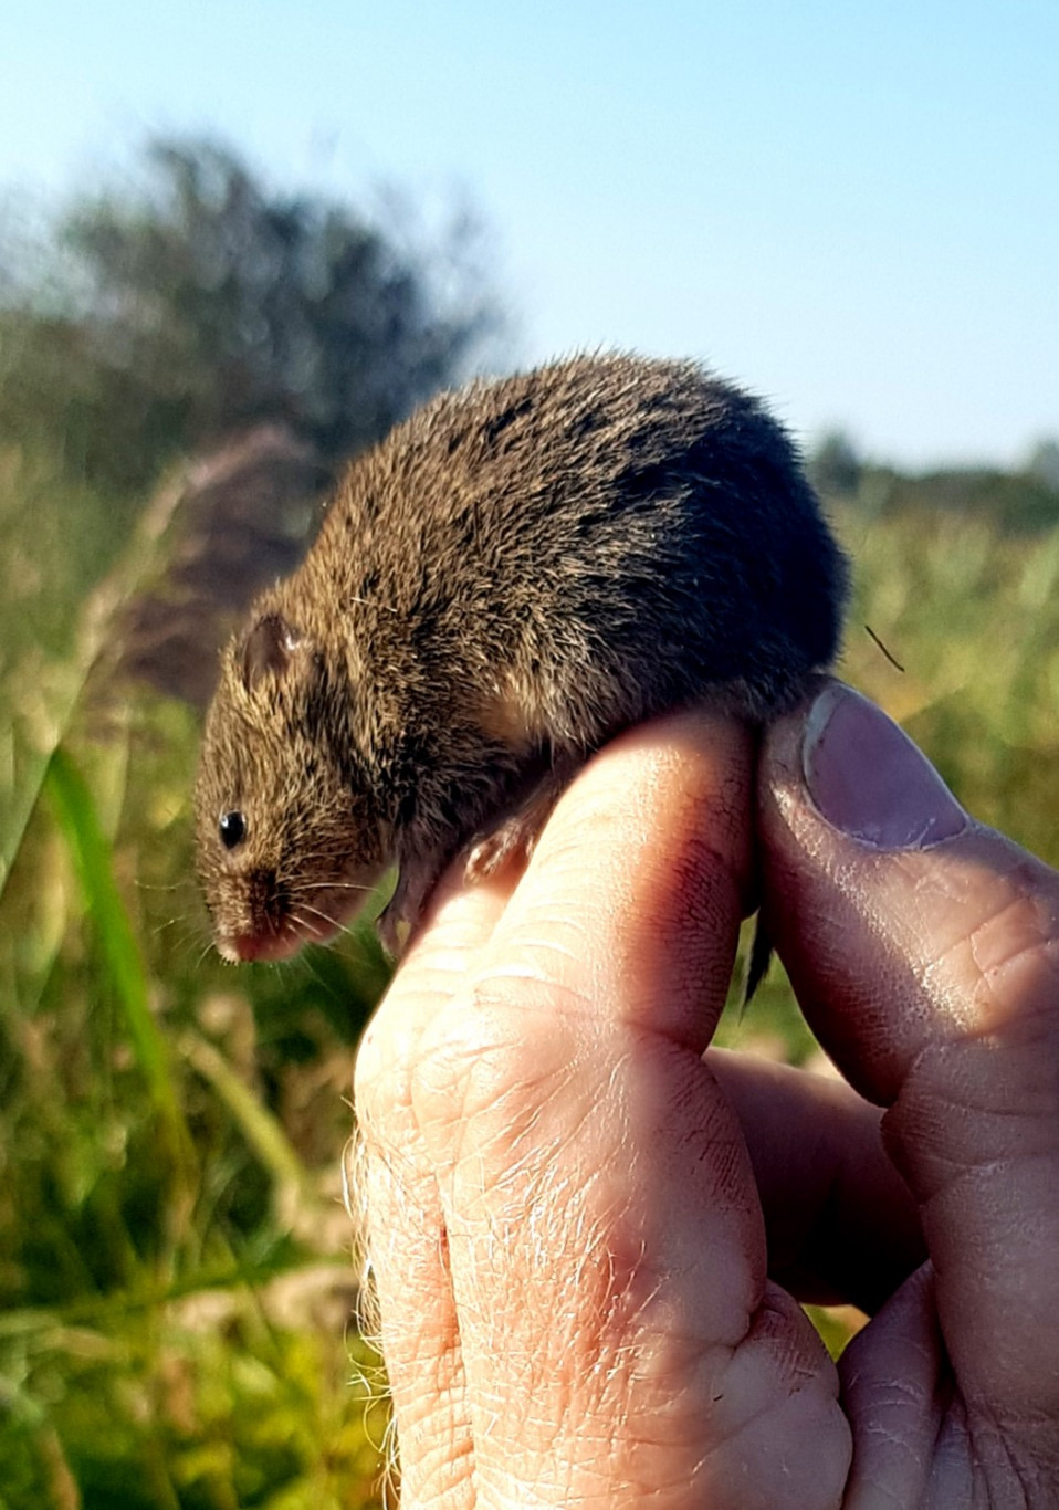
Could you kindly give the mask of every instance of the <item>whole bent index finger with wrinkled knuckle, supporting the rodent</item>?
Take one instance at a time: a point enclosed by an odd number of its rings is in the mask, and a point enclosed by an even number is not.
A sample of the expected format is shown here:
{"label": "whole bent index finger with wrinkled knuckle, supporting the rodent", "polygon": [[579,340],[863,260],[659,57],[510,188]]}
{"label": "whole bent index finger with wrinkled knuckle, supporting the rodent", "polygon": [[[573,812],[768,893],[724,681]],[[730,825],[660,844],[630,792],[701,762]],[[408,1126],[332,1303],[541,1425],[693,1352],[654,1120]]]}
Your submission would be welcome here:
{"label": "whole bent index finger with wrinkled knuckle, supporting the rodent", "polygon": [[739,1120],[701,1057],[749,888],[751,787],[736,723],[692,713],[613,741],[418,1040],[474,1472],[512,1502],[838,1499],[834,1368],[767,1282]]}

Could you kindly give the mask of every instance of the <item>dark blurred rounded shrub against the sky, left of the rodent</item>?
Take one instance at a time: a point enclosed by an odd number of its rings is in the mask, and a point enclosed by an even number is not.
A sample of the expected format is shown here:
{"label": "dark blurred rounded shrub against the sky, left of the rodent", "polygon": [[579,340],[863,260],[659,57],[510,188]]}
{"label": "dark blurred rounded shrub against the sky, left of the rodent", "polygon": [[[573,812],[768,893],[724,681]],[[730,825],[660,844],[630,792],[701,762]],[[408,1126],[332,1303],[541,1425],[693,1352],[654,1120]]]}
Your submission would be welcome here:
{"label": "dark blurred rounded shrub against the sky, left of the rodent", "polygon": [[0,246],[0,435],[118,492],[261,423],[334,462],[500,328],[467,214],[414,245],[208,139],[148,143],[140,181]]}

